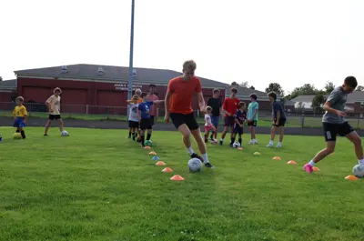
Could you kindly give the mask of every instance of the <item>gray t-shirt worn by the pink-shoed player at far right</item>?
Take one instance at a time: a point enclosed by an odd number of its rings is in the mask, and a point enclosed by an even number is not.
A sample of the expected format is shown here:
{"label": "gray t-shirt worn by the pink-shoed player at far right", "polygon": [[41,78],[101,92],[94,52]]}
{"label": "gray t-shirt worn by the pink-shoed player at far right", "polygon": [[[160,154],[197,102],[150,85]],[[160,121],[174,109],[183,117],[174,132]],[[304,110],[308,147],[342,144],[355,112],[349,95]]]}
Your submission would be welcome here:
{"label": "gray t-shirt worn by the pink-shoed player at far right", "polygon": [[[331,104],[331,108],[339,111],[345,111],[345,105],[347,104],[348,94],[344,92],[341,86],[336,87],[329,95],[328,100]],[[325,112],[322,117],[322,122],[331,124],[343,124],[347,122],[345,117],[336,115],[334,113]]]}

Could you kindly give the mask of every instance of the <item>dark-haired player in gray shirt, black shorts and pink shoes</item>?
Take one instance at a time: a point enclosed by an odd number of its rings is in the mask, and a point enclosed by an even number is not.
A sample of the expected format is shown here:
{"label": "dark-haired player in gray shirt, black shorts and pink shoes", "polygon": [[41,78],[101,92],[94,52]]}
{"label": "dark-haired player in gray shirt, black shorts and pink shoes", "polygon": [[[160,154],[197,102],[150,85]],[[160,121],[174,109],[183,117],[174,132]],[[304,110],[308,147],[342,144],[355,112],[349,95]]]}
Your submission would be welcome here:
{"label": "dark-haired player in gray shirt, black shorts and pink shoes", "polygon": [[322,127],[326,140],[326,148],[319,151],[313,159],[303,166],[303,169],[312,173],[312,167],[320,160],[333,153],[336,145],[336,136],[346,136],[349,141],[354,144],[355,154],[358,157],[359,165],[364,166],[363,147],[361,139],[352,126],[349,125],[345,116],[345,105],[347,103],[348,94],[352,93],[357,87],[357,79],[353,76],[348,76],[344,84],[336,87],[328,97],[325,105],[325,115],[322,117]]}

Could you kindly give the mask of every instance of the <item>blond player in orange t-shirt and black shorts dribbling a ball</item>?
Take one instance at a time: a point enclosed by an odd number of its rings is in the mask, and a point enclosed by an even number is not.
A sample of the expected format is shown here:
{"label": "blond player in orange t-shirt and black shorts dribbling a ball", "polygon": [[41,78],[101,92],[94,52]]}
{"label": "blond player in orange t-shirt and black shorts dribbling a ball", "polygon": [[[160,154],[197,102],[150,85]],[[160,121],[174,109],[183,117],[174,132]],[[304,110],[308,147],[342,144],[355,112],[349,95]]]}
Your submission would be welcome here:
{"label": "blond player in orange t-shirt and black shorts dribbling a ball", "polygon": [[[165,121],[168,123],[170,118],[182,134],[189,156],[200,159],[206,167],[214,167],[208,162],[206,145],[191,106],[193,95],[197,94],[200,111],[203,113],[206,111],[201,82],[195,76],[195,70],[196,63],[193,60],[186,61],[183,64],[183,75],[169,81],[165,99]],[[191,134],[197,142],[202,157],[192,149]]]}

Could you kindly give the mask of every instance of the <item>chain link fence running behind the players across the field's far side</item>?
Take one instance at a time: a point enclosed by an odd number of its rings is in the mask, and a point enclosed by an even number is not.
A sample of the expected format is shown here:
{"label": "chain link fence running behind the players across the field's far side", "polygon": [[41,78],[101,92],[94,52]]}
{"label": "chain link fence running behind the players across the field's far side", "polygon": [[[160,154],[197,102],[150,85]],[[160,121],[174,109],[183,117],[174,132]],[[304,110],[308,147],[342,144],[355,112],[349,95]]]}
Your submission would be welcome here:
{"label": "chain link fence running behind the players across the field's far side", "polygon": [[[25,103],[28,116],[46,118],[48,116],[45,104]],[[15,103],[0,102],[0,115],[13,116]],[[199,124],[204,124],[204,116],[199,111],[194,112]],[[127,107],[100,106],[100,105],[61,105],[63,118],[74,118],[84,120],[127,120]],[[163,105],[157,108],[157,121],[162,122],[165,115]],[[320,127],[322,112],[287,112],[287,127]],[[363,114],[350,113],[347,117],[351,126],[364,128]],[[258,126],[271,126],[272,117],[270,111],[259,110]],[[220,125],[223,125],[223,117],[220,118]]]}

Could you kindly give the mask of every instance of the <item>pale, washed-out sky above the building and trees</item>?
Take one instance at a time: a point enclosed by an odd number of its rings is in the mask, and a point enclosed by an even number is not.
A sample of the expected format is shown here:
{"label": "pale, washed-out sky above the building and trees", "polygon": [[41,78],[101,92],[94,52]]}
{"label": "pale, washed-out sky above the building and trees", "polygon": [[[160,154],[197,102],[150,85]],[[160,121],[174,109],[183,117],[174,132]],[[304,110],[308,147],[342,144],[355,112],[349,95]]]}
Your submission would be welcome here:
{"label": "pale, washed-out sky above the building and trees", "polygon": [[[131,0],[0,4],[0,75],[53,65],[128,65]],[[286,93],[305,83],[364,83],[364,1],[136,0],[137,67],[180,71]]]}

